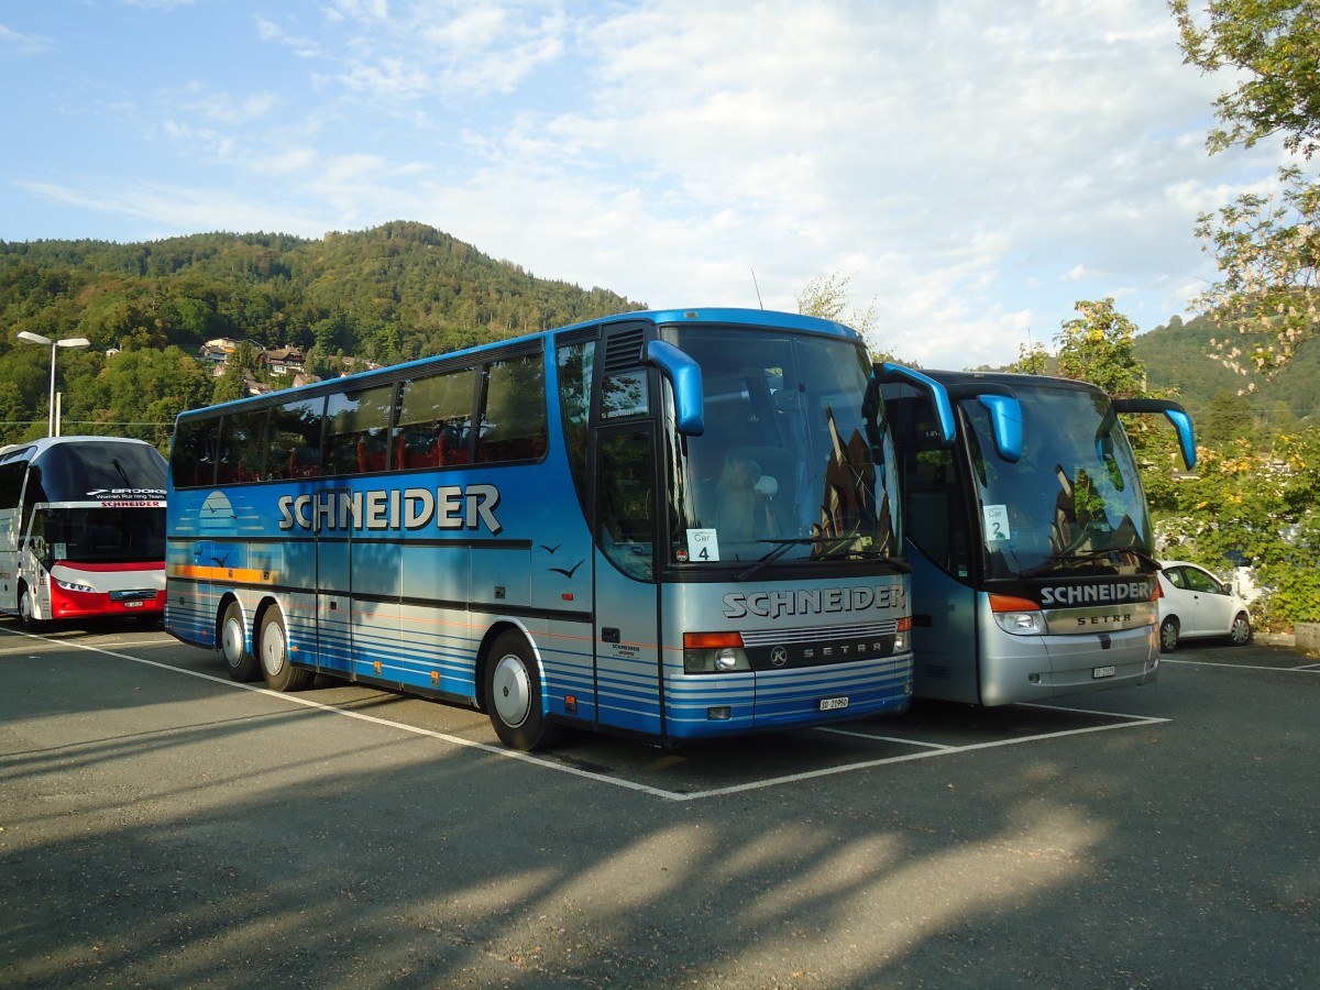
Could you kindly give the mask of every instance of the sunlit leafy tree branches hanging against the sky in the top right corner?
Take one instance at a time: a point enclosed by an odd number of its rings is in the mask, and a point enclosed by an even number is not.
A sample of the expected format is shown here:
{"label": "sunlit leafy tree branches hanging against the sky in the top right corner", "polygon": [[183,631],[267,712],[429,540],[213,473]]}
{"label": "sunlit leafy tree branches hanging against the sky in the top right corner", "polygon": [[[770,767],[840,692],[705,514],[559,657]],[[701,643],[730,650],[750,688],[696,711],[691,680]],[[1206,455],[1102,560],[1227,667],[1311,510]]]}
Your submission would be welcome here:
{"label": "sunlit leafy tree branches hanging against the sky in the top right corner", "polygon": [[[1170,0],[1184,61],[1226,70],[1230,88],[1216,99],[1218,127],[1206,148],[1253,147],[1282,136],[1307,161],[1320,149],[1320,16],[1315,0]],[[1279,170],[1276,197],[1239,195],[1197,220],[1197,234],[1222,279],[1193,305],[1234,331],[1216,341],[1226,363],[1250,360],[1272,372],[1315,337],[1320,261],[1320,186],[1296,168]]]}

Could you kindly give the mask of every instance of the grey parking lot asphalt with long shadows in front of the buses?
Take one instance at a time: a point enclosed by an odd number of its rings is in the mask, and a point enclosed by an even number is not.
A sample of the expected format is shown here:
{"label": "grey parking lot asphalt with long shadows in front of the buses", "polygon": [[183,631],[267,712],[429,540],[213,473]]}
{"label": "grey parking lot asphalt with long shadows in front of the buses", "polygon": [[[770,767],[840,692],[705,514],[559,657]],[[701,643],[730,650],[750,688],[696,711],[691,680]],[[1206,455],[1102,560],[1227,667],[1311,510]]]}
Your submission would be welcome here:
{"label": "grey parking lot asphalt with long shadows in front of the buses", "polygon": [[663,750],[0,620],[5,986],[1320,985],[1320,663]]}

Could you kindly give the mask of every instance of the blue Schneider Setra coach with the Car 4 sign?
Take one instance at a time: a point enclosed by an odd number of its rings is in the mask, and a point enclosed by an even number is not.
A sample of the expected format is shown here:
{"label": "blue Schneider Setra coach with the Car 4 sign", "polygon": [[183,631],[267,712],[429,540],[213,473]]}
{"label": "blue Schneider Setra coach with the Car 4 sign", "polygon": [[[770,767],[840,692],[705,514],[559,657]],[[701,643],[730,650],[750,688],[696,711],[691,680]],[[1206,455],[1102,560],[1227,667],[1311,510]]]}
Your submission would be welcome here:
{"label": "blue Schneider Setra coach with the Car 4 sign", "polygon": [[166,628],[276,690],[429,696],[521,750],[909,704],[894,447],[838,323],[628,313],[187,412],[168,507]]}

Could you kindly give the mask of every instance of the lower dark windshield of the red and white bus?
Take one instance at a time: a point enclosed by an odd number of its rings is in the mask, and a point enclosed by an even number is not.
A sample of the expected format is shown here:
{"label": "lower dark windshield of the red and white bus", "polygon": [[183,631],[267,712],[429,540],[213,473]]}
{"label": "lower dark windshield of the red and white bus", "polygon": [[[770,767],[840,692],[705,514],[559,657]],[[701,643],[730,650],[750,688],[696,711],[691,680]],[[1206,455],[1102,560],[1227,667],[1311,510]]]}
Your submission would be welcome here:
{"label": "lower dark windshield of the red and white bus", "polygon": [[148,564],[165,560],[164,508],[38,508],[32,550],[49,570],[70,564]]}

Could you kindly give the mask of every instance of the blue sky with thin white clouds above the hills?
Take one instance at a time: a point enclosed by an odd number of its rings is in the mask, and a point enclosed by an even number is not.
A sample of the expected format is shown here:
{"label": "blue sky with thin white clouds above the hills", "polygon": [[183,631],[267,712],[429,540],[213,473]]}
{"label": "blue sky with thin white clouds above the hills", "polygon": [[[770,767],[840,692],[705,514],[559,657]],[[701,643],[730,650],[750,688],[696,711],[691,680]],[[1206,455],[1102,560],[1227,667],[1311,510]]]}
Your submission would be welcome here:
{"label": "blue sky with thin white clouds above the hills", "polygon": [[[432,224],[655,308],[846,276],[925,367],[1214,277],[1226,79],[1158,0],[0,0],[0,240]],[[752,281],[755,272],[755,284]]]}

